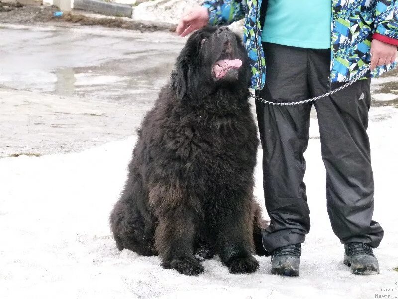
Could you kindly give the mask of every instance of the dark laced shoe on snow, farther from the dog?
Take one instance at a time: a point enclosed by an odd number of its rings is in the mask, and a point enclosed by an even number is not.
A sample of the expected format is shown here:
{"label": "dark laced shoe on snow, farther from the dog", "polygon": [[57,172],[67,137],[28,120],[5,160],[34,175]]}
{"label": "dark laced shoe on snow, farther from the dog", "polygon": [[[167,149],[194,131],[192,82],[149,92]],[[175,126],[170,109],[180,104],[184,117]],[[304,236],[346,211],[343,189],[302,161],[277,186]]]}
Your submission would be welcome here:
{"label": "dark laced shoe on snow, farther from the dog", "polygon": [[379,263],[371,247],[360,242],[344,245],[343,263],[351,267],[351,272],[358,275],[379,274]]}

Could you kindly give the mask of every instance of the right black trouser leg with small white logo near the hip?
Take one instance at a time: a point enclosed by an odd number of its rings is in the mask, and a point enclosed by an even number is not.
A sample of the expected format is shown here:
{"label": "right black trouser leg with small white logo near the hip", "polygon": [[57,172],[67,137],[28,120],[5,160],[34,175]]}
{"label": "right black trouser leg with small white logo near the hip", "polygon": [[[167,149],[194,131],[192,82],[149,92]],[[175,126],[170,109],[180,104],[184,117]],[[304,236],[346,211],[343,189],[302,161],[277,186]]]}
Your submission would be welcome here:
{"label": "right black trouser leg with small white logo near the hip", "polygon": [[[310,63],[311,96],[328,90],[330,52]],[[332,84],[331,89],[344,83]],[[341,243],[360,242],[375,248],[383,229],[372,220],[373,173],[366,129],[370,107],[370,79],[359,80],[315,102],[322,158],[325,164],[327,211]]]}

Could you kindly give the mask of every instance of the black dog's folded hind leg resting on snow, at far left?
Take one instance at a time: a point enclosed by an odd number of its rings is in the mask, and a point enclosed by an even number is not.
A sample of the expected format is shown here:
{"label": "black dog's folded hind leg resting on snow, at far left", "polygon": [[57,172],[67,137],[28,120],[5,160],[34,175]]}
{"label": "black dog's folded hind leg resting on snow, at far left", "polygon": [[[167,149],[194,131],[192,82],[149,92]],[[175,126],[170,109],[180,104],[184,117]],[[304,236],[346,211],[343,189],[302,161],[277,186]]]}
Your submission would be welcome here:
{"label": "black dog's folded hind leg resting on snow, at far left", "polygon": [[125,200],[119,200],[114,206],[110,226],[119,250],[126,248],[144,256],[156,255],[154,228]]}

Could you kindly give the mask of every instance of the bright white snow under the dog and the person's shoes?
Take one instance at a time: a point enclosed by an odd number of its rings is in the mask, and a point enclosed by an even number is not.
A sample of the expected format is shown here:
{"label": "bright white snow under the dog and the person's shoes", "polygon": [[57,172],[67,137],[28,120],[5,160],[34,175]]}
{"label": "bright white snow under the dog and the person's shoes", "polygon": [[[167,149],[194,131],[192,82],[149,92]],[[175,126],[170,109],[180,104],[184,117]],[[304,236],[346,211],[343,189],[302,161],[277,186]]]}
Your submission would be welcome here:
{"label": "bright white snow under the dog and the person's shoes", "polygon": [[[371,114],[374,219],[385,229],[375,250],[380,275],[354,276],[342,263],[343,246],[326,213],[317,138],[306,152],[312,228],[300,277],[271,275],[266,257],[255,274],[231,275],[214,258],[203,263],[203,275],[187,277],[162,269],[158,257],[119,252],[108,215],[126,177],[131,137],[80,153],[0,159],[0,298],[397,298],[398,110],[374,108]],[[257,168],[260,201],[261,180]]]}

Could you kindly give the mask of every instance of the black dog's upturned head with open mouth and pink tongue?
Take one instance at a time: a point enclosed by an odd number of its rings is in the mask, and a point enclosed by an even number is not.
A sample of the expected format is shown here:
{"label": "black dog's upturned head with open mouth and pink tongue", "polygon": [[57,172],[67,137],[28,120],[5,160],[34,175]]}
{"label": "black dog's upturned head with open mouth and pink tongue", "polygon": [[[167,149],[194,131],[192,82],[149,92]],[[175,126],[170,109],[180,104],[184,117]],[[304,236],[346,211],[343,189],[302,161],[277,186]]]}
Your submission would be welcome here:
{"label": "black dog's upturned head with open mouth and pink tongue", "polygon": [[181,50],[171,83],[178,98],[198,99],[219,88],[247,88],[249,78],[241,39],[228,27],[205,27]]}

